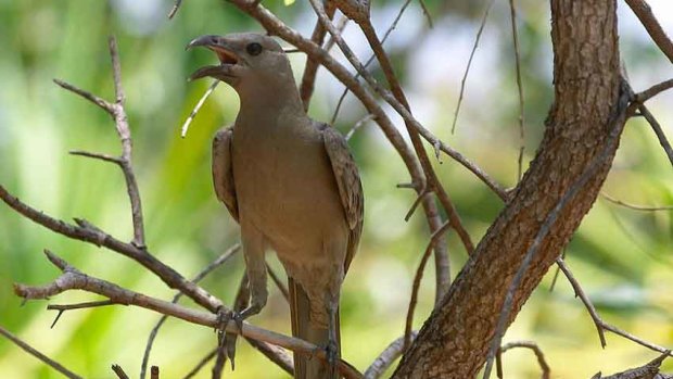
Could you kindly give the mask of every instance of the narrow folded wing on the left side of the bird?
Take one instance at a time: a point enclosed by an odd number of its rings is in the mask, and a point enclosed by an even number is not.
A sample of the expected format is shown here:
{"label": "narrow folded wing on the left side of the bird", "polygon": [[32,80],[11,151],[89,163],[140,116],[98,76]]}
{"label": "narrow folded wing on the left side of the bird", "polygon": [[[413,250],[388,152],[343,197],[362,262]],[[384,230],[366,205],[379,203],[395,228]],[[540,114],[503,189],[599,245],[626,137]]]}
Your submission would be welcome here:
{"label": "narrow folded wing on the left side of the bird", "polygon": [[213,185],[217,199],[225,203],[233,219],[239,220],[239,205],[233,187],[233,169],[231,165],[231,139],[233,129],[224,127],[213,138]]}

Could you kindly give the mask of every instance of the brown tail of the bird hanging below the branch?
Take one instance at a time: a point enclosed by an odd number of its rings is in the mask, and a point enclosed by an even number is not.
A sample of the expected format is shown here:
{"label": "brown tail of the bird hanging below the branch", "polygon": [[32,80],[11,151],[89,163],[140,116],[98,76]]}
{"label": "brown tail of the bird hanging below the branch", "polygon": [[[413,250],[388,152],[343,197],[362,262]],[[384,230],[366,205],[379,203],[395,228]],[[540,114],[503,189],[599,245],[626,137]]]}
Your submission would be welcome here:
{"label": "brown tail of the bird hanging below the branch", "polygon": [[[310,326],[310,304],[308,295],[297,282],[289,278],[290,313],[292,317],[292,336],[308,341],[319,348],[327,346],[329,330]],[[338,313],[339,314],[339,313]],[[341,345],[339,316],[336,317],[336,345]],[[328,366],[317,357],[294,353],[294,378],[325,379],[329,378]]]}

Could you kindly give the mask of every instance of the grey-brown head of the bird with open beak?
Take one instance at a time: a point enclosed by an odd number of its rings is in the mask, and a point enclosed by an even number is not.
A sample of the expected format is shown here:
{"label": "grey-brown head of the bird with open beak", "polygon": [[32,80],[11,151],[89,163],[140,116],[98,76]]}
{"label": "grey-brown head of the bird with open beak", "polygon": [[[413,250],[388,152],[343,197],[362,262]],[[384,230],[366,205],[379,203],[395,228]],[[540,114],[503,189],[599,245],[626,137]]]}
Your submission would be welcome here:
{"label": "grey-brown head of the bird with open beak", "polygon": [[271,37],[255,33],[195,38],[187,49],[204,47],[217,54],[219,65],[194,72],[190,79],[213,77],[229,84],[239,93],[246,89],[274,90],[288,83],[294,86],[290,62],[280,45]]}

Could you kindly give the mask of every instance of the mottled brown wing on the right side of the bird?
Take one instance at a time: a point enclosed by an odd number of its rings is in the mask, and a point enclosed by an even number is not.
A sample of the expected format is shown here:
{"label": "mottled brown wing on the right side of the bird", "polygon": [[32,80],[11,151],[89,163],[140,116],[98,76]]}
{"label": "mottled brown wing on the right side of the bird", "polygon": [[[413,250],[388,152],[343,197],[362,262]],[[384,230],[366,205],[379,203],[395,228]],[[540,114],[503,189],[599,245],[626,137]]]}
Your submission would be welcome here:
{"label": "mottled brown wing on the right side of the bird", "polygon": [[346,261],[344,262],[344,269],[347,270],[363,233],[363,219],[365,216],[363,184],[345,138],[329,125],[320,124],[318,128],[322,131],[325,150],[332,165],[334,179],[336,179],[336,186],[339,187],[341,204],[346,216],[346,223],[351,229]]}

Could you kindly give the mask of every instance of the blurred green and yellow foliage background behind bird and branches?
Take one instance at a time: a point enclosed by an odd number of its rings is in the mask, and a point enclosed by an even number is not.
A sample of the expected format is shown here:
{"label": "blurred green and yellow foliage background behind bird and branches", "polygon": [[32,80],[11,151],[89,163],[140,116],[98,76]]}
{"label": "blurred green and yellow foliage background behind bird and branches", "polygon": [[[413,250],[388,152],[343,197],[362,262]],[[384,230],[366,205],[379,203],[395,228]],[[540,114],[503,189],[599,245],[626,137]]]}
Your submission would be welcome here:
{"label": "blurred green and yellow foliage background behind bird and branches", "polygon": [[[669,35],[673,4],[650,0]],[[382,35],[403,2],[376,1],[372,18]],[[234,7],[216,0],[186,1],[168,21],[167,0],[0,0],[0,184],[22,200],[69,220],[82,217],[122,240],[130,240],[129,205],[120,173],[113,165],[69,156],[68,150],[117,154],[119,144],[110,117],[51,81],[61,78],[106,99],[113,85],[106,38],[118,38],[123,80],[135,143],[148,244],[161,260],[192,277],[209,261],[238,242],[236,223],[214,195],[209,147],[214,131],[234,119],[236,93],[220,85],[206,102],[186,139],[179,128],[208,81],[187,83],[188,75],[215,58],[206,51],[185,52],[186,43],[203,34],[262,31]],[[307,3],[268,0],[287,23],[309,35],[315,24]],[[506,187],[517,180],[519,148],[518,97],[509,8],[497,1],[491,11],[454,134],[450,126],[474,36],[486,1],[428,0],[429,27],[412,1],[386,42],[415,115],[440,138],[479,164]],[[518,1],[522,79],[525,100],[524,169],[533,157],[551,103],[553,53],[547,1]],[[673,70],[631,11],[619,2],[620,45],[635,90],[673,77]],[[361,60],[369,49],[356,27],[344,36]],[[334,52],[342,61],[343,58]],[[299,78],[301,53],[291,60]],[[377,67],[372,67],[377,72]],[[379,75],[379,73],[377,73]],[[343,86],[321,70],[310,115],[331,119]],[[671,93],[651,101],[650,110],[673,137]],[[351,96],[336,127],[346,132],[366,115]],[[404,128],[399,118],[393,119]],[[403,132],[406,134],[406,132]],[[350,140],[360,166],[366,194],[365,235],[342,294],[342,340],[345,359],[364,370],[404,330],[411,280],[429,240],[420,212],[404,215],[415,199],[396,189],[409,180],[401,159],[376,124],[363,126]],[[500,201],[466,169],[443,156],[435,162],[447,190],[473,240],[479,240],[501,210]],[[673,204],[671,167],[649,126],[628,123],[605,193],[622,201]],[[673,345],[672,211],[637,212],[599,199],[570,243],[568,264],[600,314],[653,343]],[[449,235],[453,273],[466,254]],[[149,311],[111,306],[67,312],[55,328],[46,301],[21,306],[13,282],[47,283],[59,273],[41,251],[50,249],[79,269],[136,291],[170,299],[169,291],[142,267],[110,251],[56,236],[0,205],[0,325],[86,378],[113,377],[120,365],[137,377],[147,336],[160,316]],[[271,265],[281,273],[275,256]],[[432,262],[432,260],[431,260]],[[241,256],[211,275],[203,286],[228,303],[243,269]],[[434,268],[423,278],[416,327],[422,325],[434,299]],[[564,278],[549,291],[555,268],[535,291],[505,342],[534,340],[546,354],[555,378],[589,378],[597,371],[635,367],[657,354],[608,334],[600,348],[584,306]],[[289,332],[284,300],[271,287],[268,305],[252,323]],[[51,300],[66,304],[96,300],[68,292]],[[168,320],[152,351],[151,364],[163,378],[180,378],[215,344],[203,327]],[[231,378],[287,378],[244,342],[239,343]],[[666,364],[673,369],[673,364]],[[530,351],[504,355],[507,378],[538,378]],[[0,339],[0,377],[59,378],[33,356]],[[200,378],[208,378],[204,370]]]}

